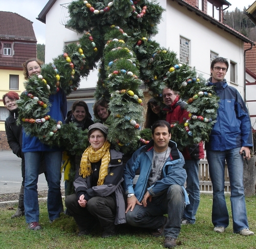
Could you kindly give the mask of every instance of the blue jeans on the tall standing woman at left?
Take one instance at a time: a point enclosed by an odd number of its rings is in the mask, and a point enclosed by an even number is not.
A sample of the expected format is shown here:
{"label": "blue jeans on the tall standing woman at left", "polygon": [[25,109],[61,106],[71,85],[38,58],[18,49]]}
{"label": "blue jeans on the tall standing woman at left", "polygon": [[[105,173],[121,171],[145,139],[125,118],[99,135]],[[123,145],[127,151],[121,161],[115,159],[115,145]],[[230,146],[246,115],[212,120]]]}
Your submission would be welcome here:
{"label": "blue jeans on the tall standing woman at left", "polygon": [[63,209],[60,180],[61,180],[61,151],[36,151],[26,152],[26,176],[25,176],[25,191],[24,191],[24,207],[26,222],[39,221],[39,205],[37,182],[39,175],[39,168],[41,164],[41,156],[45,157],[47,182],[48,182],[48,198],[47,208],[50,220],[59,217]]}

